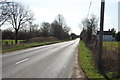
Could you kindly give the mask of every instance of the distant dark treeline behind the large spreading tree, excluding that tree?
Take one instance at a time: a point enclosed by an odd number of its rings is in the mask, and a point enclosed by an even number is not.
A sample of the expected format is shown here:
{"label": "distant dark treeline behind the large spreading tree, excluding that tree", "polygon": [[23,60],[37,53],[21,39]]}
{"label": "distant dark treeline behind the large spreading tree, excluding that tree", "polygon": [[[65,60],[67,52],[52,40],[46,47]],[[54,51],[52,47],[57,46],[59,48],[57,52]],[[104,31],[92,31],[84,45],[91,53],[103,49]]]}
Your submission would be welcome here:
{"label": "distant dark treeline behind the large spreading tree, excluding that tree", "polygon": [[[70,39],[69,31],[70,28],[65,24],[63,16],[59,14],[51,24],[48,22],[42,22],[41,25],[29,23],[29,26],[19,30],[18,39],[51,36],[60,40]],[[2,30],[2,39],[15,39],[15,31],[12,28]]]}

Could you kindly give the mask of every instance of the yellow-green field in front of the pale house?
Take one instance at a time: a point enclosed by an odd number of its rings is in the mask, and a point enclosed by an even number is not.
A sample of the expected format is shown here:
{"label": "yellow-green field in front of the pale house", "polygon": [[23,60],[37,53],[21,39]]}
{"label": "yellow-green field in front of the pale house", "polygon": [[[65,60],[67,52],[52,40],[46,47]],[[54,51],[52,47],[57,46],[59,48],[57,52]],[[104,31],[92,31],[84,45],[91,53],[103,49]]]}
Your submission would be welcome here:
{"label": "yellow-green field in front of the pale house", "polygon": [[103,47],[108,51],[116,51],[118,50],[118,44],[120,44],[120,42],[103,42]]}

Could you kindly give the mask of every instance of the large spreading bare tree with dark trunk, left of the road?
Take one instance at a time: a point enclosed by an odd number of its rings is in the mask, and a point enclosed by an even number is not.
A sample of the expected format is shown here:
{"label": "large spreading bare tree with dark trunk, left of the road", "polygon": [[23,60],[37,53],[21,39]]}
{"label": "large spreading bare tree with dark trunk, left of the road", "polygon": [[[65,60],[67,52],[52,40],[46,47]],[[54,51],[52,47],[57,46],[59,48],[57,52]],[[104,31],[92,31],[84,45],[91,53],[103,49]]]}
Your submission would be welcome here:
{"label": "large spreading bare tree with dark trunk, left of the road", "polygon": [[15,30],[15,43],[18,42],[18,31],[30,20],[33,19],[33,15],[30,10],[25,9],[23,5],[17,2],[11,2],[8,5],[9,15],[8,22],[12,24]]}

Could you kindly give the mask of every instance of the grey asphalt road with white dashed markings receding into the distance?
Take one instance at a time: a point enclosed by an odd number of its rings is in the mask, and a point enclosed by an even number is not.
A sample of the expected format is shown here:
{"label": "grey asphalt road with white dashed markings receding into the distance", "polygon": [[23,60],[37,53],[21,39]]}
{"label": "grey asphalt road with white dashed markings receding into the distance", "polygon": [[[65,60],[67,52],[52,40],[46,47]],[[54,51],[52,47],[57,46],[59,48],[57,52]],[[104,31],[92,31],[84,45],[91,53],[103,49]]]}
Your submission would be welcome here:
{"label": "grey asphalt road with white dashed markings receding into the distance", "polygon": [[79,39],[2,55],[3,78],[70,78]]}

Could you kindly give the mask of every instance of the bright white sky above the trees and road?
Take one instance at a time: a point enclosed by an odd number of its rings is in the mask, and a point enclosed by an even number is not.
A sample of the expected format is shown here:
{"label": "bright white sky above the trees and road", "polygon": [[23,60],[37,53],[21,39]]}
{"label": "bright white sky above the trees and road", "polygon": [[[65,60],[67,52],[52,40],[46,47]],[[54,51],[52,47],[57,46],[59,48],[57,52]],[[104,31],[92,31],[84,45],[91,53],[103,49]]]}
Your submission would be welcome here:
{"label": "bright white sky above the trees and road", "polygon": [[[35,17],[35,23],[52,23],[58,14],[62,14],[71,32],[80,34],[80,23],[87,16],[90,1],[92,1],[89,16],[100,15],[101,0],[14,0],[29,7]],[[118,29],[118,1],[106,0],[104,30]],[[98,25],[99,26],[99,25]]]}

